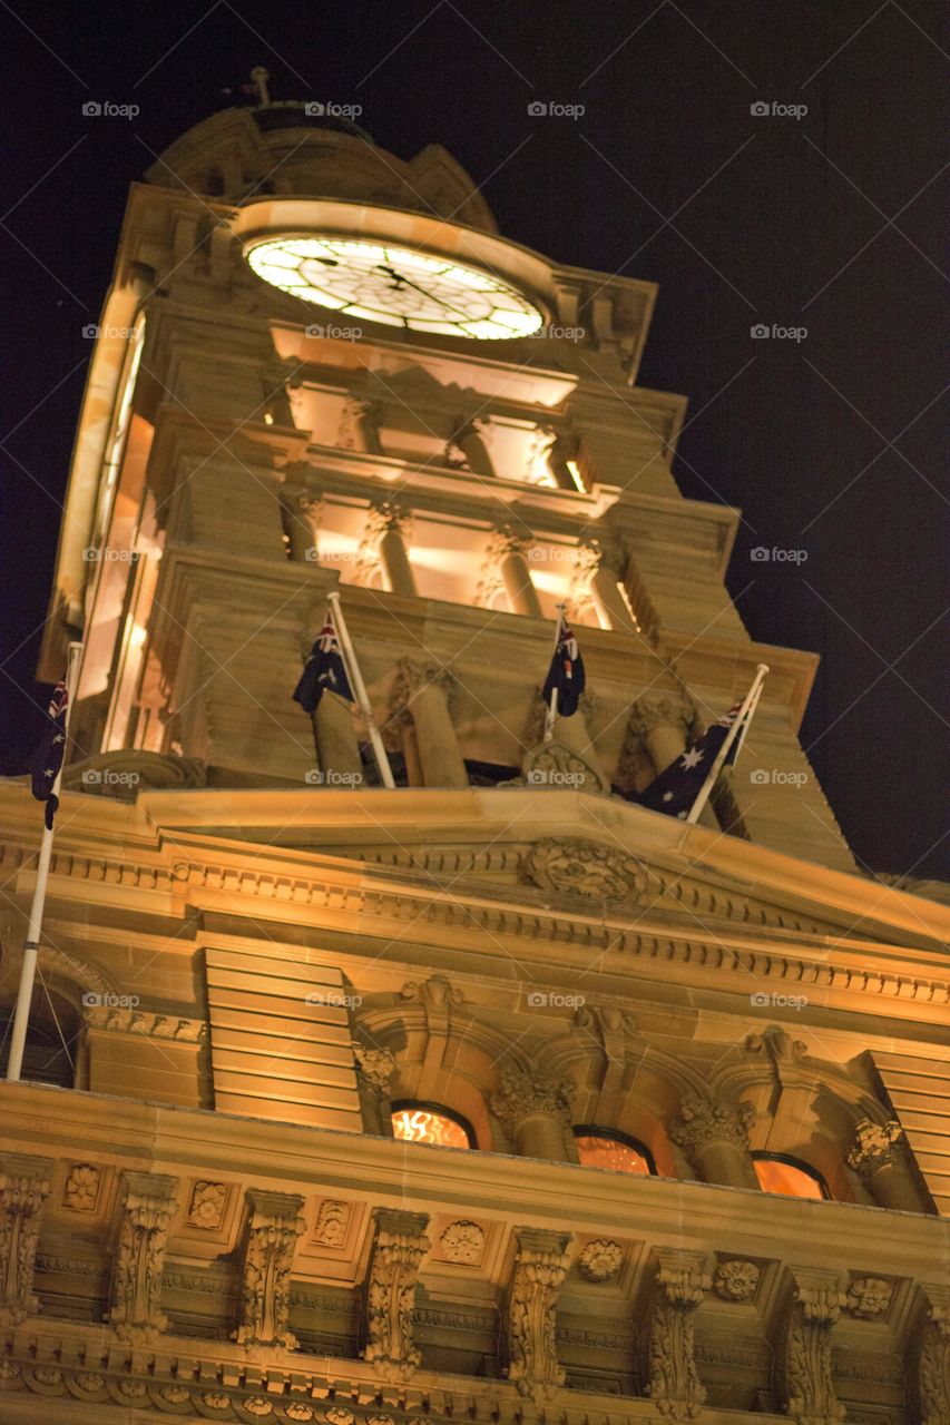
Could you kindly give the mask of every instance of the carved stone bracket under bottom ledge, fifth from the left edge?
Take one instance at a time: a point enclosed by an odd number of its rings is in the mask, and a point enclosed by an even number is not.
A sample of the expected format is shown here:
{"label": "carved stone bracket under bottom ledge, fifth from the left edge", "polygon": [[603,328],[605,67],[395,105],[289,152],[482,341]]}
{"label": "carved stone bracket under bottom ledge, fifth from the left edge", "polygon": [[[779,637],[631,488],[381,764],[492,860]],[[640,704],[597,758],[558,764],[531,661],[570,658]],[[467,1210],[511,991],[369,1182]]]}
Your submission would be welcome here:
{"label": "carved stone bracket under bottom ledge, fifth from the left edge", "polygon": [[568,1274],[571,1235],[515,1228],[515,1265],[505,1298],[506,1375],[535,1405],[563,1385],[558,1365],[556,1305]]}

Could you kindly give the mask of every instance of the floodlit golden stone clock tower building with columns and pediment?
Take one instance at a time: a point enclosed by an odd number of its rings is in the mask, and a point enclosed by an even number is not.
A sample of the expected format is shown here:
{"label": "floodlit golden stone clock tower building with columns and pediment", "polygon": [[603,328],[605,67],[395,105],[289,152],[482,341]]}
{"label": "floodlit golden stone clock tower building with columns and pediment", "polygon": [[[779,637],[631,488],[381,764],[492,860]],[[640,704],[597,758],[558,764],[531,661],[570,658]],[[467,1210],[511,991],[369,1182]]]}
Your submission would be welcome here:
{"label": "floodlit golden stone clock tower building with columns and pediment", "polygon": [[[0,1425],[949,1419],[946,888],[856,871],[656,288],[255,86],[133,185],[80,415]],[[291,697],[331,596],[371,720]],[[636,805],[762,663],[702,821]]]}

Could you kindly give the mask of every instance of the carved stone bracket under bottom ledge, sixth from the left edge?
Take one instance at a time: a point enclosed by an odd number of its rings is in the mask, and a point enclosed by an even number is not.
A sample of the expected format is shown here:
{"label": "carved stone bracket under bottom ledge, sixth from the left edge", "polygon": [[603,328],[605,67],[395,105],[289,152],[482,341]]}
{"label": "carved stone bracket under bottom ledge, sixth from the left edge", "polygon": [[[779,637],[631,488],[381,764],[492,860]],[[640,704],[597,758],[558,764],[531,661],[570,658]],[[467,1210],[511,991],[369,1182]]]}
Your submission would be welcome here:
{"label": "carved stone bracket under bottom ledge, sixth from the left edge", "polygon": [[696,1369],[693,1318],[712,1281],[702,1251],[659,1247],[656,1261],[646,1341],[649,1395],[660,1415],[689,1421],[706,1399]]}

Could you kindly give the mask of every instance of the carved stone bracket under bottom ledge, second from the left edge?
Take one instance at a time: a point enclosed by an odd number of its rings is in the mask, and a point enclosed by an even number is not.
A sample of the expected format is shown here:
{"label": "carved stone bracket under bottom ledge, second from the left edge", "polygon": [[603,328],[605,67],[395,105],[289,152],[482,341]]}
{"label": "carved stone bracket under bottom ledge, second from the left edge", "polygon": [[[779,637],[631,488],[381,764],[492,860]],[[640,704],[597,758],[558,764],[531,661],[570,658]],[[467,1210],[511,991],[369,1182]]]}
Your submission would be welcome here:
{"label": "carved stone bracket under bottom ledge, second from the left edge", "polygon": [[108,1324],[120,1341],[154,1341],[165,1330],[161,1274],[177,1177],[124,1173],[121,1218],[113,1261]]}

